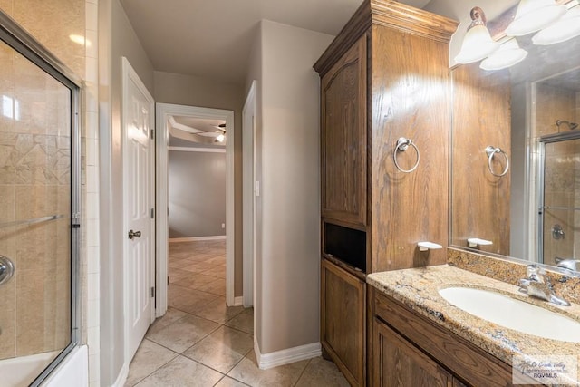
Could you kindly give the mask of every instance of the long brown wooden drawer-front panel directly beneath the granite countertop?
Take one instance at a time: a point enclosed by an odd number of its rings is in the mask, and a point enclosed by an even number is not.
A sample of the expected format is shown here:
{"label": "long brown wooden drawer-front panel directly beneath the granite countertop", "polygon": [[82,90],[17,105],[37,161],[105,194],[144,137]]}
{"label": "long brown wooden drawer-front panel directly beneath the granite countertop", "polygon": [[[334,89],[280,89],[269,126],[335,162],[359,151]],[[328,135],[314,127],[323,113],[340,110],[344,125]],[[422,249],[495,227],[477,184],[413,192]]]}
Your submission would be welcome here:
{"label": "long brown wooden drawer-front panel directly beneath the granite countertop", "polygon": [[374,288],[371,302],[374,303],[375,315],[382,322],[390,325],[432,359],[437,359],[459,380],[473,386],[511,385],[509,364],[499,361],[457,334],[430,323]]}

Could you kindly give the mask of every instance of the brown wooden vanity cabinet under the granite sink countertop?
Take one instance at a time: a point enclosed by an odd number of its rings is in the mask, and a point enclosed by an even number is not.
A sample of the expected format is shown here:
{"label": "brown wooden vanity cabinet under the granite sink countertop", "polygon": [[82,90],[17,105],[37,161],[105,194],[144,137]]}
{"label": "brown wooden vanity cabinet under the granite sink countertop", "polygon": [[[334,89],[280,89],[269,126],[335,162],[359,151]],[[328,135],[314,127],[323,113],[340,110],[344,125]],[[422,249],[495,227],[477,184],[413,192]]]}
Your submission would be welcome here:
{"label": "brown wooden vanity cabinet under the granite sink countertop", "polygon": [[369,299],[370,385],[512,385],[509,364],[372,286]]}

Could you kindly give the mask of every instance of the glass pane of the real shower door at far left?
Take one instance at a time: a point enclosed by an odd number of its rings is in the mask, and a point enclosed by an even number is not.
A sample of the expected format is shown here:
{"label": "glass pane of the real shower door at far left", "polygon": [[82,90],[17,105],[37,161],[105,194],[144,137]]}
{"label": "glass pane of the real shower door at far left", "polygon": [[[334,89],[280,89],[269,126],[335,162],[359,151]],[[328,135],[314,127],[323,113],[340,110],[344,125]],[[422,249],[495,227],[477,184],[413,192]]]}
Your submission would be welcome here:
{"label": "glass pane of the real shower door at far left", "polygon": [[78,89],[0,37],[0,384],[28,386],[74,345]]}

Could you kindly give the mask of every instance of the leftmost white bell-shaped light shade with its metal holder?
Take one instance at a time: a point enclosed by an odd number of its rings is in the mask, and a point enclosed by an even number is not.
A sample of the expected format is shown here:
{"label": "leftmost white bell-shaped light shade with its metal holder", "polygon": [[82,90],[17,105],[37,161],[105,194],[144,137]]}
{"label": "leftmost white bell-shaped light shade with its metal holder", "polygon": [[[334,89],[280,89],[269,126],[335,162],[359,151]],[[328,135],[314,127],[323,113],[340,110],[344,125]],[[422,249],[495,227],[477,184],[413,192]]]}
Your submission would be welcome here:
{"label": "leftmost white bell-shaped light shade with its metal holder", "polygon": [[486,27],[486,15],[478,6],[471,9],[471,24],[468,32],[463,37],[461,51],[455,57],[457,63],[478,62],[490,53],[498,50],[499,44],[491,39],[488,27]]}

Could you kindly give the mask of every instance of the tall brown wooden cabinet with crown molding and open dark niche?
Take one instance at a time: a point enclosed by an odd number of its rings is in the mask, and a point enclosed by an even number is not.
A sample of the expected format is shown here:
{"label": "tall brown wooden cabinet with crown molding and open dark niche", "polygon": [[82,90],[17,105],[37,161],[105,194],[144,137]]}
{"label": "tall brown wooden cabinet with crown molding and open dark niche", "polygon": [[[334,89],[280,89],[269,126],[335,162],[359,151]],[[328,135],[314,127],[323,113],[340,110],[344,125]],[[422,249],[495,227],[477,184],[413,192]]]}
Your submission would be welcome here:
{"label": "tall brown wooden cabinet with crown molding and open dark niche", "polygon": [[[448,243],[448,44],[456,22],[366,0],[314,64],[321,76],[321,342],[366,385],[365,276],[439,265]],[[398,151],[397,140],[413,146]],[[362,312],[361,312],[362,311]],[[359,313],[362,313],[360,315]],[[349,318],[350,316],[350,318]],[[354,321],[356,320],[356,321]],[[340,339],[339,339],[340,337]]]}

